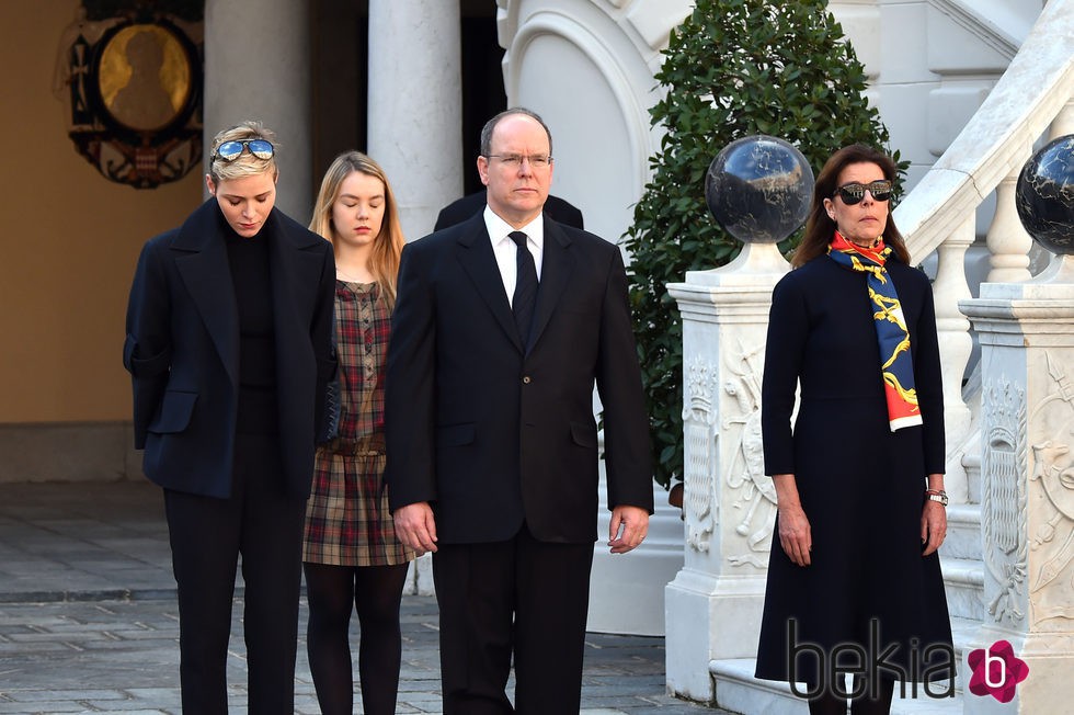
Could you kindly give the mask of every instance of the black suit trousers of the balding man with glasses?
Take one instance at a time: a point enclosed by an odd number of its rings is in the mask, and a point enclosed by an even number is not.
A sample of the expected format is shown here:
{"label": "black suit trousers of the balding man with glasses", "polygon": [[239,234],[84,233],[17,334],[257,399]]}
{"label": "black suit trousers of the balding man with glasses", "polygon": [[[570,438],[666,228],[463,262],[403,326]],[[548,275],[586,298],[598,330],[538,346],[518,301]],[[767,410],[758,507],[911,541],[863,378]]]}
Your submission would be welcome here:
{"label": "black suit trousers of the balding man with glasses", "polygon": [[[439,544],[445,715],[578,715],[593,544]],[[515,667],[515,703],[505,693]]]}

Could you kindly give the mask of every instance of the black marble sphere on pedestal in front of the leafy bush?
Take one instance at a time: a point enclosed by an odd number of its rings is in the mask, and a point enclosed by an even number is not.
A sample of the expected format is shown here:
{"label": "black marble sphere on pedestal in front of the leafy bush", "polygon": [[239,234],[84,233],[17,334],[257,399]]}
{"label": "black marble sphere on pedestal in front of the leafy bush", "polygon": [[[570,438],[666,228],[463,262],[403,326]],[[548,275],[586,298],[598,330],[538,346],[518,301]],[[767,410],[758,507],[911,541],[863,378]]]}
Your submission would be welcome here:
{"label": "black marble sphere on pedestal in front of the leafy bush", "polygon": [[809,215],[813,170],[793,146],[776,137],[735,139],[717,155],[705,178],[713,218],[743,243],[776,243]]}

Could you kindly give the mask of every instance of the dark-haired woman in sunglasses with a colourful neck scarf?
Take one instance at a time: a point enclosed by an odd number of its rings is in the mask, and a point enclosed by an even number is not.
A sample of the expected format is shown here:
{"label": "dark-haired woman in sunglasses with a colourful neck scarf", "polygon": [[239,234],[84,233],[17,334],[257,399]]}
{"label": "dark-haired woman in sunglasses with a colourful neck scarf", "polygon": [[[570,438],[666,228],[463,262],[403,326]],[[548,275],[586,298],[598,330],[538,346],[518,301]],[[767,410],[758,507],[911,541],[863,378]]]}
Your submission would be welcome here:
{"label": "dark-haired woman in sunglasses with a colourful neck scarf", "polygon": [[773,293],[762,420],[778,538],[756,676],[791,682],[814,715],[847,700],[889,713],[896,681],[903,697],[955,688],[939,345],[932,286],[892,220],[895,174],[869,147],[835,152]]}

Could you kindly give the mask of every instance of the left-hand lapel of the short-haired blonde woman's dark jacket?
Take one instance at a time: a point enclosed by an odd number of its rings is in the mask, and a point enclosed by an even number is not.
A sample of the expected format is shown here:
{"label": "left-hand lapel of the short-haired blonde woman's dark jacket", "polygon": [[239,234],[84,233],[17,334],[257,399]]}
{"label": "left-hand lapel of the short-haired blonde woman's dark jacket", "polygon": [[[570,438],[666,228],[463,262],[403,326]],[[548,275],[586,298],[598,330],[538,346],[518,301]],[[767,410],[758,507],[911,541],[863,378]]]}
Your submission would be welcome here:
{"label": "left-hand lapel of the short-haired blonde woman's dark jacket", "polygon": [[239,308],[231,286],[219,208],[210,198],[183,224],[172,243],[175,266],[191,294],[231,384],[239,385]]}

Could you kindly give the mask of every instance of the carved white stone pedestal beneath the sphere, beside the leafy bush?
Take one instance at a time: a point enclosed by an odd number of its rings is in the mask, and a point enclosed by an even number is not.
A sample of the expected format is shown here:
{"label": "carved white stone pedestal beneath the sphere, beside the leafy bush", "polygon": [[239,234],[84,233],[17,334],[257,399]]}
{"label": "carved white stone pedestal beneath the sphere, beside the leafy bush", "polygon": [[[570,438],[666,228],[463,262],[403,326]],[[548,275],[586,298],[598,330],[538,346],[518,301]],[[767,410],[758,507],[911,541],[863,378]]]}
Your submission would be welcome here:
{"label": "carved white stone pedestal beneath the sphere, beside the leafy bush", "polygon": [[664,595],[670,691],[713,697],[709,663],[753,658],[776,492],[765,476],[761,375],[772,290],[790,265],[746,245],[669,292],[683,314],[686,554]]}

